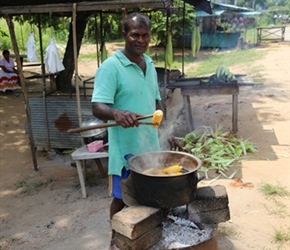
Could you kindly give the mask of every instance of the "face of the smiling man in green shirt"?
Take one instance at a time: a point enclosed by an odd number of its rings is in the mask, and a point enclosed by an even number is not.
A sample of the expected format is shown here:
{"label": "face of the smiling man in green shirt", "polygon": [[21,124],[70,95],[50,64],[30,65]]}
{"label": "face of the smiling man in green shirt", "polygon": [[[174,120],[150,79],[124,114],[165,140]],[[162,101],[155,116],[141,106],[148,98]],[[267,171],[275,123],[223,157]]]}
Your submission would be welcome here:
{"label": "face of the smiling man in green shirt", "polygon": [[129,22],[130,30],[124,33],[125,48],[135,56],[144,54],[150,43],[150,28],[146,25],[137,26],[134,19]]}

